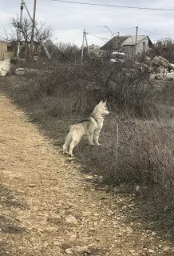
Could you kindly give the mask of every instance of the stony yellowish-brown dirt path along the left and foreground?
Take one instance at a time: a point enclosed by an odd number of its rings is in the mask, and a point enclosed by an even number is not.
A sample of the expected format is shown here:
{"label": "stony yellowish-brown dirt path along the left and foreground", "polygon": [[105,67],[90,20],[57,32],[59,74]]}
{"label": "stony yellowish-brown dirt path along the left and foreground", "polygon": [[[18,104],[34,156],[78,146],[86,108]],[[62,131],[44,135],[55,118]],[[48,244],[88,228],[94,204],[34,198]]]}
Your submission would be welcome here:
{"label": "stony yellowish-brown dirt path along the left and foreground", "polygon": [[0,110],[1,256],[174,255],[138,222],[123,222],[132,198],[93,190],[2,94]]}

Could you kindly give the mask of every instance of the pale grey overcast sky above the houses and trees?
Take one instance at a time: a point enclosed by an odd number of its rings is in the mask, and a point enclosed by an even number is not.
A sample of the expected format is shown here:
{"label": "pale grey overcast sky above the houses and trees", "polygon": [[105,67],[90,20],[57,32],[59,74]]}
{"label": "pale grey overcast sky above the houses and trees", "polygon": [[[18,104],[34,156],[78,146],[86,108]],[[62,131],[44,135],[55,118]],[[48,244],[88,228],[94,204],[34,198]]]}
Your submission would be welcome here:
{"label": "pale grey overcast sky above the houses and trees", "polygon": [[[72,0],[73,1],[73,0]],[[76,2],[77,0],[74,0]],[[33,16],[34,0],[26,0],[26,6]],[[139,6],[150,8],[165,8],[174,10],[173,0],[78,0],[118,6]],[[4,27],[9,26],[9,18],[20,12],[21,0],[0,0],[0,36],[4,35]],[[24,11],[25,15],[26,11]],[[51,0],[38,0],[36,18],[46,22],[54,30],[53,40],[71,42],[81,45],[82,31],[86,30],[89,44],[102,46],[112,37],[112,33],[121,35],[147,34],[152,41],[157,38],[170,37],[174,39],[174,11],[164,10],[133,10],[106,6],[87,6]],[[109,30],[105,28],[109,27]],[[146,31],[144,31],[146,30]],[[166,34],[166,35],[165,35]]]}

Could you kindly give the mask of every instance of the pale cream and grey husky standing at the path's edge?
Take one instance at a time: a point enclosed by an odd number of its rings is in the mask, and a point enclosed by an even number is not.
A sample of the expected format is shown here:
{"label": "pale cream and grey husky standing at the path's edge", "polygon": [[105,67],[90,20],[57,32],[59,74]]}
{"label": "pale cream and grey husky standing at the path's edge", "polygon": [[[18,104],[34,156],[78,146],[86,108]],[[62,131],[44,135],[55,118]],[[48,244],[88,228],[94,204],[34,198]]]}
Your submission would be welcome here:
{"label": "pale cream and grey husky standing at the path's edge", "polygon": [[[85,134],[89,136],[89,145],[95,144],[101,145],[98,142],[99,134],[103,126],[105,114],[109,114],[106,108],[106,102],[101,101],[93,110],[93,114],[90,118],[77,122],[70,126],[68,134],[65,138],[65,144],[63,146],[63,153],[73,156],[73,148],[80,142],[81,137]],[[69,152],[68,152],[69,148]]]}

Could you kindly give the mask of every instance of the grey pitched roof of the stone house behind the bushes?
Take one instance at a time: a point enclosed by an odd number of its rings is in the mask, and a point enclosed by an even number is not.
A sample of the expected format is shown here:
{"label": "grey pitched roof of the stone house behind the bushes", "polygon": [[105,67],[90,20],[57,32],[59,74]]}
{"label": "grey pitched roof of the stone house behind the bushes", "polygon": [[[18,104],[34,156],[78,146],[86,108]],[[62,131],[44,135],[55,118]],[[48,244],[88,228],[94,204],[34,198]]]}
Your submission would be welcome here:
{"label": "grey pitched roof of the stone house behind the bushes", "polygon": [[[137,36],[137,44],[144,40],[144,38],[148,38],[147,35],[138,35]],[[114,37],[109,42],[106,42],[104,46],[101,46],[101,50],[116,50],[121,46],[134,46],[136,44],[136,36],[121,36]],[[152,41],[148,38],[148,44],[152,46]]]}

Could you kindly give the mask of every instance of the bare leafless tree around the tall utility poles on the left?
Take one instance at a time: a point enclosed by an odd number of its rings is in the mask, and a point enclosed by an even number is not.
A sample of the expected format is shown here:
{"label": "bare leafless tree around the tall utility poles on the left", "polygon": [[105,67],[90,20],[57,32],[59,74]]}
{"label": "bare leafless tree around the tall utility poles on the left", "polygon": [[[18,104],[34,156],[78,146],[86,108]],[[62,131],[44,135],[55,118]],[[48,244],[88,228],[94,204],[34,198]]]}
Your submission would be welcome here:
{"label": "bare leafless tree around the tall utility poles on the left", "polygon": [[[14,45],[14,50],[17,51],[17,44],[21,45],[21,58],[34,58],[34,55],[38,55],[41,50],[41,42],[50,40],[53,36],[53,30],[51,27],[45,26],[45,23],[36,22],[38,30],[34,33],[34,46],[32,46],[32,22],[30,19],[24,18],[22,25],[19,18],[10,18],[10,30],[5,30],[6,40],[10,41]],[[21,32],[21,38],[19,38],[19,31]]]}

